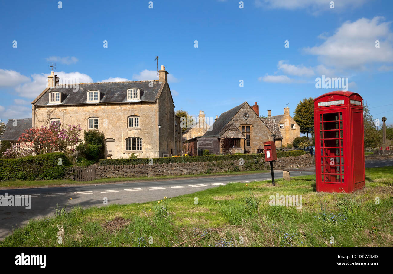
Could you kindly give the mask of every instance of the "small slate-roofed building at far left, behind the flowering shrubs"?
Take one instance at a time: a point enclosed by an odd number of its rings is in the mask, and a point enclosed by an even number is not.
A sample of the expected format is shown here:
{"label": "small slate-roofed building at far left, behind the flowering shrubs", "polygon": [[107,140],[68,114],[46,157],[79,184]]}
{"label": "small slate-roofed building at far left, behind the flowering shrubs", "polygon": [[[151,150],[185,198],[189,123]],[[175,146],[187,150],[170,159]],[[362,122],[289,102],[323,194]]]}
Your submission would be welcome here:
{"label": "small slate-roofed building at far left, behind the flowering shrubs", "polygon": [[[30,118],[27,119],[9,119],[6,125],[6,131],[0,135],[0,142],[8,141],[11,144],[11,147],[14,147],[15,150],[19,151],[21,144],[18,139],[22,133],[26,132],[26,129],[31,129],[32,120]],[[1,155],[0,155],[1,156]]]}

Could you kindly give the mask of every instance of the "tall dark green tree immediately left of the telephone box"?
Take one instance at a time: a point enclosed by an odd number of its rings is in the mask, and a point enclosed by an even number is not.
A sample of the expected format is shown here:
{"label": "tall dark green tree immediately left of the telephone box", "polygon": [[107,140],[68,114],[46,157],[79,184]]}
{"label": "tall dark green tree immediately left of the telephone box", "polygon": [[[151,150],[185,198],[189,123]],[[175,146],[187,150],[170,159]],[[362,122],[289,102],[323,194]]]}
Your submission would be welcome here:
{"label": "tall dark green tree immediately left of the telephone box", "polygon": [[300,101],[295,109],[294,120],[298,123],[301,133],[306,133],[309,138],[309,133],[314,132],[314,99],[304,98]]}

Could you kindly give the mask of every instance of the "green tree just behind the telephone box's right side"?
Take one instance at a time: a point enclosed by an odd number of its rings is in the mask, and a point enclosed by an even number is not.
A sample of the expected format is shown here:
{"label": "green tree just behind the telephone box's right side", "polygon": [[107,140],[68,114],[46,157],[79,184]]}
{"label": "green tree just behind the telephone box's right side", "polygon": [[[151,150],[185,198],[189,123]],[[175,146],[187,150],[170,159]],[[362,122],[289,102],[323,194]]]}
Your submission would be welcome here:
{"label": "green tree just behind the telephone box's right side", "polygon": [[363,105],[364,147],[378,147],[382,143],[382,131],[378,130],[367,102]]}

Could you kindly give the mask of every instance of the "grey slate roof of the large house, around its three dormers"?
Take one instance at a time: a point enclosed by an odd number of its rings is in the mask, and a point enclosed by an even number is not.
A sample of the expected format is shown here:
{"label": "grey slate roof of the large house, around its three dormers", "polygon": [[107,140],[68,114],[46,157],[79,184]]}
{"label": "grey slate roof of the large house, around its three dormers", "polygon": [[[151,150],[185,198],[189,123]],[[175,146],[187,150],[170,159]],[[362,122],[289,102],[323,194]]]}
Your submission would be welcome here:
{"label": "grey slate roof of the large house, around its three dormers", "polygon": [[[40,94],[32,103],[34,105],[48,105],[49,93],[51,91],[60,91],[62,93],[62,102],[59,105],[85,104],[87,103],[87,91],[90,90],[100,92],[101,100],[98,103],[154,102],[165,83],[154,80],[152,81],[152,87],[149,87],[149,83],[150,81],[81,83],[78,85],[78,91],[66,88],[65,85],[59,88],[51,87]],[[141,90],[140,100],[127,101],[127,89],[130,88]]]}

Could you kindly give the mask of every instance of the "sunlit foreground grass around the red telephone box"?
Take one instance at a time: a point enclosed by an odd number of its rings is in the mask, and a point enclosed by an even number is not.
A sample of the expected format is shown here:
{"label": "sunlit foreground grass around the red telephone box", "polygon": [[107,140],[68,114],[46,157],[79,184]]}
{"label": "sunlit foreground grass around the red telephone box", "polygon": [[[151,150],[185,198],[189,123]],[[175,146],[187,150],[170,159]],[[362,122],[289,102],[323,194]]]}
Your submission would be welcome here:
{"label": "sunlit foreground grass around the red telephone box", "polygon": [[[393,167],[366,169],[366,180],[353,194],[315,192],[310,175],[275,187],[231,183],[160,203],[58,209],[0,246],[393,246]],[[301,209],[270,206],[277,192],[301,195]]]}

